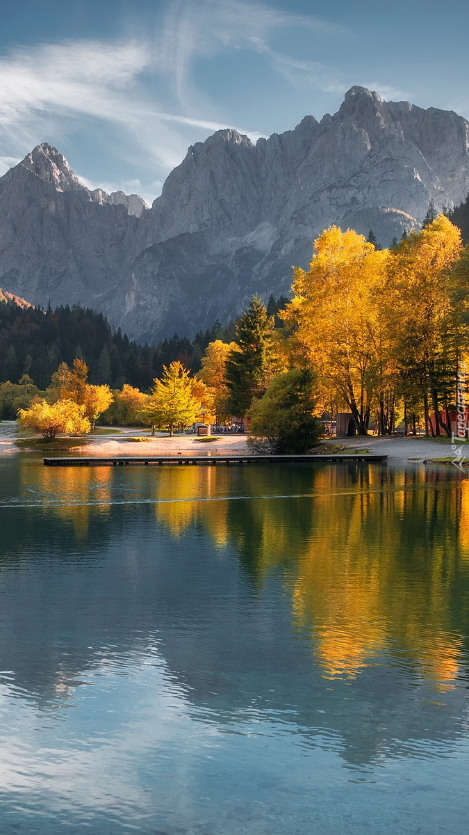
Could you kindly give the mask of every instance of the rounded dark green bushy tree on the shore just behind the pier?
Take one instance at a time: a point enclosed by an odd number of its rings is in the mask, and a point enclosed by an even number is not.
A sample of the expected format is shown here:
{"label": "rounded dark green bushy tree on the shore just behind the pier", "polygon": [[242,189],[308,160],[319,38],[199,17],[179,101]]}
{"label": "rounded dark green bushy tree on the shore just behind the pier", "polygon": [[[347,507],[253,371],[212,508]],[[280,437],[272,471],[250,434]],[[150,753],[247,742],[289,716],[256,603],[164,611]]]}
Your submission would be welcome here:
{"label": "rounded dark green bushy tree on the shore just behind the pier", "polygon": [[279,374],[250,410],[250,446],[270,453],[305,453],[323,434],[313,415],[315,375],[308,368]]}

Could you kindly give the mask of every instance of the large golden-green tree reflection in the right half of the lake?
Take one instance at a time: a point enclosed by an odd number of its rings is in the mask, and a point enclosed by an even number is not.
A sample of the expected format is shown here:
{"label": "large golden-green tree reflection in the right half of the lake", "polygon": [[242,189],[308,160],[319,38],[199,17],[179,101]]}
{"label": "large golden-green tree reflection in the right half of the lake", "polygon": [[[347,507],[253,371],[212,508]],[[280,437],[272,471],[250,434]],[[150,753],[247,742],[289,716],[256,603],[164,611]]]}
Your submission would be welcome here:
{"label": "large golden-green tree reflection in the right half of the lake", "polygon": [[436,689],[453,686],[462,643],[452,607],[469,579],[466,481],[429,468],[285,469],[246,468],[251,498],[227,498],[215,514],[201,503],[193,519],[209,530],[218,519],[256,585],[280,572],[295,630],[325,676],[356,676],[391,654]]}

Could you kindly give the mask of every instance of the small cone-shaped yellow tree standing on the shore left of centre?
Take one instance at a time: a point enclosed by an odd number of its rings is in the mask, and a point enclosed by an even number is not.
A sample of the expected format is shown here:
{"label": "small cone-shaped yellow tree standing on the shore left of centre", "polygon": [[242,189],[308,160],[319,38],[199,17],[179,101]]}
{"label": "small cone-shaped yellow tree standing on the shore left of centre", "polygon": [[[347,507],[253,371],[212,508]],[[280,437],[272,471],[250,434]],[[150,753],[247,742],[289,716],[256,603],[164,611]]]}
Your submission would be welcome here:
{"label": "small cone-shaped yellow tree standing on the shore left of centre", "polygon": [[[154,380],[148,401],[140,410],[144,423],[153,428],[174,429],[194,423],[200,416],[200,399],[194,396],[194,381],[180,362],[164,366],[163,377]],[[202,384],[201,384],[202,385]]]}

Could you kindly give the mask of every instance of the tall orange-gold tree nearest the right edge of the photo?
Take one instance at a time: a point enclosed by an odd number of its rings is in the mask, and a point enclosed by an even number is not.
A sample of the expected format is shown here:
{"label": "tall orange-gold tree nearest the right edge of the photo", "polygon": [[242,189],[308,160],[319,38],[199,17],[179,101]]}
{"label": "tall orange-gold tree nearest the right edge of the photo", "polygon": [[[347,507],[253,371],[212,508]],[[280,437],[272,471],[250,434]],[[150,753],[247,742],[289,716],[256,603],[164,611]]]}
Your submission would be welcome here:
{"label": "tall orange-gold tree nearest the right edge of the photo", "polygon": [[382,306],[391,352],[406,384],[421,392],[426,428],[430,405],[440,427],[451,435],[441,405],[454,401],[456,365],[467,341],[464,310],[467,277],[457,259],[461,233],[444,215],[419,232],[411,232],[387,261]]}

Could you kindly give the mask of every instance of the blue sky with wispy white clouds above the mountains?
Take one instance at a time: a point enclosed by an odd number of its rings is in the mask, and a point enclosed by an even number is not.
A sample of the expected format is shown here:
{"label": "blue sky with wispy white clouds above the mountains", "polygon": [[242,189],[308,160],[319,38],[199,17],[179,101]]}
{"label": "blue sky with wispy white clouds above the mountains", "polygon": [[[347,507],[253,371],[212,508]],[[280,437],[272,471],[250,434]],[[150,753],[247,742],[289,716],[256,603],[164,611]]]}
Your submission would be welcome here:
{"label": "blue sky with wispy white clouds above the mountains", "polygon": [[189,147],[254,142],[355,84],[469,119],[469,3],[2,0],[0,175],[37,144],[85,185],[160,194]]}

